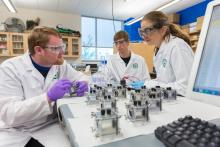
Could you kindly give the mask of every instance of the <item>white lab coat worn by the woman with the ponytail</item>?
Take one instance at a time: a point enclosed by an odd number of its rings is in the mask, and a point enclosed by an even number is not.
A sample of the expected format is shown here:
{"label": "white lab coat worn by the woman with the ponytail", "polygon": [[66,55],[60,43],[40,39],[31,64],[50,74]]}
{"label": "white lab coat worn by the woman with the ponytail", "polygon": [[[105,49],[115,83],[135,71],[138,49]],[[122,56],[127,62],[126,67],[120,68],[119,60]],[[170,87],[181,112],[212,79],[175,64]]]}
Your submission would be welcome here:
{"label": "white lab coat worn by the woman with the ponytail", "polygon": [[146,85],[172,87],[185,96],[193,57],[191,47],[184,40],[171,35],[168,42],[162,42],[153,59],[157,78],[146,82]]}

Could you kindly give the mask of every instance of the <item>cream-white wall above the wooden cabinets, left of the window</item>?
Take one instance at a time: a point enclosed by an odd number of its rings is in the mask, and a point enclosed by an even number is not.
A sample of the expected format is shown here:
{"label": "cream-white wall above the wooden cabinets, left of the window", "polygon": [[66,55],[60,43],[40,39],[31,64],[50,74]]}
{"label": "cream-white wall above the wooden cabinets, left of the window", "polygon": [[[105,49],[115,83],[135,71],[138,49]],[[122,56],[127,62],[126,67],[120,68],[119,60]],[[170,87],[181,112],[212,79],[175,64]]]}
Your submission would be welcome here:
{"label": "cream-white wall above the wooden cabinets, left of the window", "polygon": [[8,17],[18,17],[24,21],[40,18],[40,25],[56,27],[62,24],[77,31],[81,30],[81,16],[79,14],[60,13],[55,11],[45,11],[38,9],[17,8],[18,13],[10,13],[4,6],[0,6],[0,22],[4,22]]}

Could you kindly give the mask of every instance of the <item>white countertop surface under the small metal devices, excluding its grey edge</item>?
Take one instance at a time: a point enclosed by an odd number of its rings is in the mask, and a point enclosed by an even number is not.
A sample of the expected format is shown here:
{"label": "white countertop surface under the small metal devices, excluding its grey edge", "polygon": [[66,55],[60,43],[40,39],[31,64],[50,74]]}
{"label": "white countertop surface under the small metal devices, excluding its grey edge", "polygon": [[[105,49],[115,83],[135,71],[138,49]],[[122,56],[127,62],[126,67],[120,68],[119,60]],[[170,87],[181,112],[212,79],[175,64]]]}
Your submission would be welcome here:
{"label": "white countertop surface under the small metal devices, excluding its grey edge", "polygon": [[91,112],[96,112],[98,105],[87,105],[85,100],[85,97],[77,97],[66,98],[58,102],[58,105],[67,104],[74,116],[74,118],[68,119],[71,126],[69,129],[74,132],[75,141],[80,147],[101,145],[131,136],[153,133],[158,126],[170,123],[185,115],[192,115],[204,120],[220,117],[220,107],[178,97],[174,101],[164,101],[162,111],[150,112],[150,121],[131,122],[125,117],[125,102],[127,100],[120,99],[117,106],[121,114],[119,121],[121,133],[118,136],[95,137],[95,132],[92,132],[95,120],[91,117]]}

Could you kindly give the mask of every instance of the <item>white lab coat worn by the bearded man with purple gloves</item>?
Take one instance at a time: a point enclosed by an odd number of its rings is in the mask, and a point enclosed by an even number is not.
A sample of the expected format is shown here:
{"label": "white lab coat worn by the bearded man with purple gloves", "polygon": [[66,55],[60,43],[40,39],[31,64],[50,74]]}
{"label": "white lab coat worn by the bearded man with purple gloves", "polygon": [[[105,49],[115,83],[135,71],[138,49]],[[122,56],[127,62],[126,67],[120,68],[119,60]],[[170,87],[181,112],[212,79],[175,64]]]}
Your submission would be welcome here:
{"label": "white lab coat worn by the bearded man with purple gloves", "polygon": [[[56,121],[52,106],[49,106],[46,92],[58,80],[88,80],[84,74],[75,71],[69,64],[54,65],[46,79],[33,66],[28,53],[3,62],[0,66],[0,146],[23,147],[36,130],[43,128],[54,144],[61,145],[65,137],[47,132],[45,126]],[[56,127],[60,133],[59,127]],[[47,132],[47,133],[46,133]],[[55,131],[56,132],[56,131]],[[47,134],[48,135],[48,134]],[[53,137],[52,137],[52,136]],[[37,138],[38,139],[38,138]],[[39,140],[41,141],[41,140]],[[44,141],[45,142],[45,141]],[[50,144],[49,143],[49,144]],[[65,144],[65,143],[64,143]],[[45,145],[48,144],[45,142]]]}

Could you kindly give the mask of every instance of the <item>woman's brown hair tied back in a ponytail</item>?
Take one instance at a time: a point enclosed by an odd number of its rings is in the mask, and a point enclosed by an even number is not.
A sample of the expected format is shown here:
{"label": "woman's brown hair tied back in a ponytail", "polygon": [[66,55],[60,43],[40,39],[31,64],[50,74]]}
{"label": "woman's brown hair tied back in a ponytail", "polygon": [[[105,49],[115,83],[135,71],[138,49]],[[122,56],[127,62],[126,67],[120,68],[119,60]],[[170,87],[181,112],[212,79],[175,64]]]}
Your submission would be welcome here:
{"label": "woman's brown hair tied back in a ponytail", "polygon": [[160,29],[163,26],[168,26],[168,29],[167,29],[167,32],[166,32],[164,38],[169,37],[169,35],[172,34],[173,36],[176,36],[176,37],[183,39],[186,43],[189,44],[189,46],[191,46],[189,35],[187,35],[185,32],[183,32],[179,28],[179,26],[177,26],[176,24],[170,23],[167,15],[165,15],[163,12],[152,11],[144,16],[142,21],[144,21],[144,20],[150,20],[151,22],[153,22],[154,23],[153,26],[156,29]]}

